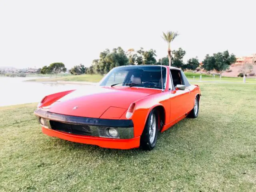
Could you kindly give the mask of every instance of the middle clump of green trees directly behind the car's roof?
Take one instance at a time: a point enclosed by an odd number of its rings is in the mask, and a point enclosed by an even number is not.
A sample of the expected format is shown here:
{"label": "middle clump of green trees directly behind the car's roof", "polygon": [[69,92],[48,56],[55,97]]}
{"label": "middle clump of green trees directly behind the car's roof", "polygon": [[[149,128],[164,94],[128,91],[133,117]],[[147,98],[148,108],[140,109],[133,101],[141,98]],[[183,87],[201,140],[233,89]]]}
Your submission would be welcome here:
{"label": "middle clump of green trees directly behind the car's roof", "polygon": [[[183,61],[186,51],[182,48],[172,51],[171,66],[190,70],[196,70],[199,66],[198,58],[190,58],[186,63]],[[94,59],[90,67],[84,65],[76,65],[72,67],[69,72],[74,75],[80,74],[106,74],[112,68],[124,65],[169,65],[168,56],[156,60],[156,50],[134,50],[133,48],[125,52],[121,47],[114,48],[112,51],[109,49],[100,52],[99,59]]]}

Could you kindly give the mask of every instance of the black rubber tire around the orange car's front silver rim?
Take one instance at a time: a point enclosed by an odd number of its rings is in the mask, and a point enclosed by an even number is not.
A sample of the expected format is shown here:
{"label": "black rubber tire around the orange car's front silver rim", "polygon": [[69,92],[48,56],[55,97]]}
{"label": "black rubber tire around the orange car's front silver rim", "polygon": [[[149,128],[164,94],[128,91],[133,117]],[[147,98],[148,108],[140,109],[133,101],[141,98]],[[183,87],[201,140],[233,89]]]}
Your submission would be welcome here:
{"label": "black rubber tire around the orange car's front silver rim", "polygon": [[[152,115],[153,115],[153,118],[155,116],[156,131],[155,131],[154,141],[150,142],[150,130],[151,130],[151,126],[150,126],[151,121],[150,120],[151,120]],[[150,114],[148,115],[146,125],[145,125],[142,135],[140,137],[140,146],[143,150],[150,151],[150,150],[154,149],[154,147],[156,146],[156,140],[157,140],[157,136],[158,136],[158,128],[159,128],[159,113],[156,109],[153,109],[150,112]]]}

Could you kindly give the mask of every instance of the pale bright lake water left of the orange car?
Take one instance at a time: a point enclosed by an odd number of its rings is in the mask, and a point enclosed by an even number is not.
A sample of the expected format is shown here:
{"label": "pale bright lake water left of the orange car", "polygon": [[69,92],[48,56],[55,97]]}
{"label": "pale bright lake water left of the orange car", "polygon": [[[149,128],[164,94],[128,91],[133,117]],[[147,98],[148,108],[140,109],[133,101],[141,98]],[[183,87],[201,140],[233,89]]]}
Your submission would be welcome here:
{"label": "pale bright lake water left of the orange car", "polygon": [[24,82],[34,78],[0,77],[0,106],[39,102],[56,92],[92,88],[92,85],[57,84],[55,82]]}

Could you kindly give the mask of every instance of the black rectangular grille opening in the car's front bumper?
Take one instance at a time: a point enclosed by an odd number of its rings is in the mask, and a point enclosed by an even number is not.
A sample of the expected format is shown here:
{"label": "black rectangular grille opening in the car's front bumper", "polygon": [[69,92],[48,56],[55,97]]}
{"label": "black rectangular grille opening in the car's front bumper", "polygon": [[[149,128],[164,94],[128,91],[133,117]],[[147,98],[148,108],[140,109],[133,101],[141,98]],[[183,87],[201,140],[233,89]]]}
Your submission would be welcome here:
{"label": "black rectangular grille opening in the car's front bumper", "polygon": [[76,135],[92,135],[92,131],[88,125],[68,124],[50,120],[50,126],[53,130],[58,130],[62,132],[72,133]]}

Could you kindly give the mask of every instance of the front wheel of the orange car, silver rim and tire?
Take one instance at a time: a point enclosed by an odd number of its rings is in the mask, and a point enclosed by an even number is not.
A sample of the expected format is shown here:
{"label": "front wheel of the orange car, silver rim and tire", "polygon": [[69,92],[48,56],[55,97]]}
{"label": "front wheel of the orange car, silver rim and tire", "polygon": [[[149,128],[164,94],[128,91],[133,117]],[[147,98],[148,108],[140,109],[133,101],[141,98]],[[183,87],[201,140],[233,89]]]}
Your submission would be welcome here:
{"label": "front wheel of the orange car, silver rim and tire", "polygon": [[145,128],[140,137],[140,146],[143,150],[152,150],[156,146],[159,126],[158,111],[153,109],[147,119]]}

